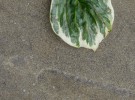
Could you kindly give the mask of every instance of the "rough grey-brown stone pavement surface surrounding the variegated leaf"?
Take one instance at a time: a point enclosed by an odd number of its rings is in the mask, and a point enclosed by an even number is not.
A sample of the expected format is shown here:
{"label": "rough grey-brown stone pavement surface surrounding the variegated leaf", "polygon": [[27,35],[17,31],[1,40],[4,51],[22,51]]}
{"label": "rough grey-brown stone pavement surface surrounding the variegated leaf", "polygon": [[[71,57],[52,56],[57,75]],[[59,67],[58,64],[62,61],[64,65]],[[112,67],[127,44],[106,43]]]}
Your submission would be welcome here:
{"label": "rough grey-brown stone pavement surface surrounding the variegated leaf", "polygon": [[0,100],[135,100],[135,0],[112,0],[98,50],[52,31],[51,0],[0,0]]}

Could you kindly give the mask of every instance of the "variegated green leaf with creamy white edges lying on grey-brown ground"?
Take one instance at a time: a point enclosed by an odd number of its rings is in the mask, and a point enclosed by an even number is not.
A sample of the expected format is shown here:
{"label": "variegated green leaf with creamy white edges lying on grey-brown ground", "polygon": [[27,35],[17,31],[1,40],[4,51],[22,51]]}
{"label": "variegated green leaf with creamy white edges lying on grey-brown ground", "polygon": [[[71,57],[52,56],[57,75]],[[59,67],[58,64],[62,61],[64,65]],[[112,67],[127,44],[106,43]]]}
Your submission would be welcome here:
{"label": "variegated green leaf with creamy white edges lying on grey-brown ground", "polygon": [[112,30],[111,0],[52,0],[50,22],[54,32],[74,47],[98,48]]}

